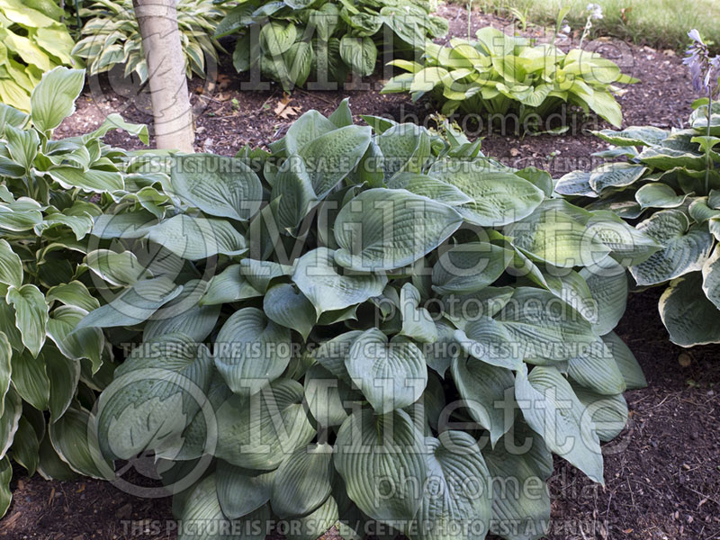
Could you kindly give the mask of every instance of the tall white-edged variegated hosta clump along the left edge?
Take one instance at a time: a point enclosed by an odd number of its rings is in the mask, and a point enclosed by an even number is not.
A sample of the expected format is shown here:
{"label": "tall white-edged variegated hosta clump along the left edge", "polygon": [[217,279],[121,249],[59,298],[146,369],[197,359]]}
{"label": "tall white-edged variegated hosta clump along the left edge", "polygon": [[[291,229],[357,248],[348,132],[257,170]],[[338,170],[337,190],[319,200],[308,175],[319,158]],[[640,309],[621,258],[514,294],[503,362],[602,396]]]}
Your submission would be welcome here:
{"label": "tall white-edged variegated hosta clump along the left edge", "polygon": [[88,453],[86,424],[94,392],[112,380],[112,347],[98,329],[73,331],[106,288],[93,281],[108,269],[88,256],[89,233],[111,204],[166,200],[102,141],[119,128],[147,143],[144,126],[112,115],[91,133],[53,139],[84,80],[57,67],[35,86],[30,114],[0,104],[0,516],[11,459],[46,478],[106,475]]}

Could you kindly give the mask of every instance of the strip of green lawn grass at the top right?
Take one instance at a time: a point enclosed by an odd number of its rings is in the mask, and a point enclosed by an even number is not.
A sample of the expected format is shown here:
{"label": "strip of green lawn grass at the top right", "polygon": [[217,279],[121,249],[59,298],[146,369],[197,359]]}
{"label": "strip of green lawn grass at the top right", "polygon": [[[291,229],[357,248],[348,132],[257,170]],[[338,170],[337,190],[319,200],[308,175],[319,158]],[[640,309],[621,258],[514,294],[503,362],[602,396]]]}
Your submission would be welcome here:
{"label": "strip of green lawn grass at the top right", "polygon": [[[468,0],[449,0],[467,4]],[[593,0],[605,17],[593,21],[593,35],[609,35],[657,49],[685,49],[688,31],[697,28],[713,49],[720,50],[718,0]],[[590,0],[473,0],[485,13],[512,16],[513,9],[528,23],[554,26],[561,7],[570,7],[566,19],[572,30],[582,31]],[[625,9],[625,13],[623,13]]]}

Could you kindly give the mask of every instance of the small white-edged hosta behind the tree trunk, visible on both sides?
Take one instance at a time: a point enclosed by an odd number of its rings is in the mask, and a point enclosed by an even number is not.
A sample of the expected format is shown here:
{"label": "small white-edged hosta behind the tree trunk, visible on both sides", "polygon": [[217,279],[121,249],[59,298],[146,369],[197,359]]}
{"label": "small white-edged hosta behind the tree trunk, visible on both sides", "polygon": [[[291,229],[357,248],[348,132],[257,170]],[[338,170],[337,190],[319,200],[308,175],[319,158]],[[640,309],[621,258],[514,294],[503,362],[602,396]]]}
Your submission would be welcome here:
{"label": "small white-edged hosta behind the tree trunk, visible on both sides", "polygon": [[[178,0],[175,8],[187,76],[194,73],[205,78],[208,61],[217,64],[218,51],[224,51],[212,34],[227,9],[211,0]],[[86,59],[89,75],[122,65],[124,76],[135,73],[144,84],[148,64],[132,0],[95,0],[80,10],[80,16],[86,20],[81,32],[84,37],[73,54]]]}

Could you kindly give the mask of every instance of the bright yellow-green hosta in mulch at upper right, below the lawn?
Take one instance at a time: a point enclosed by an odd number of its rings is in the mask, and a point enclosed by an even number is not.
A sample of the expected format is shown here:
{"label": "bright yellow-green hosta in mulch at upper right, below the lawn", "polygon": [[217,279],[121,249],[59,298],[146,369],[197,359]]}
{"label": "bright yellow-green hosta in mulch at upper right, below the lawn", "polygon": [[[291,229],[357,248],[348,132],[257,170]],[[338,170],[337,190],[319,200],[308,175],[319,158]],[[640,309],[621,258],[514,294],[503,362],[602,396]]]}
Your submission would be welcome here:
{"label": "bright yellow-green hosta in mulch at upper right, below the lawn", "polygon": [[619,128],[623,115],[613,95],[620,91],[616,85],[637,82],[598,53],[565,53],[492,27],[477,31],[477,40],[454,38],[448,46],[428,42],[421,60],[393,60],[407,73],[392,77],[383,93],[410,92],[413,99],[429,94],[443,103],[445,114],[515,114],[526,127],[569,103]]}

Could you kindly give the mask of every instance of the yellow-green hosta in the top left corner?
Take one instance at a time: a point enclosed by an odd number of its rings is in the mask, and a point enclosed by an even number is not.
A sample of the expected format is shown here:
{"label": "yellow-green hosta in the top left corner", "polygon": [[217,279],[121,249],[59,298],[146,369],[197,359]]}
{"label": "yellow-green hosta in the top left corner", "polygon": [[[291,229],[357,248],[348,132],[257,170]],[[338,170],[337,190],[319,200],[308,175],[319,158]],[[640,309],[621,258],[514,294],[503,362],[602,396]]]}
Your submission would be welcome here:
{"label": "yellow-green hosta in the top left corner", "polygon": [[0,103],[30,111],[30,94],[43,73],[76,64],[73,39],[50,0],[0,4]]}

